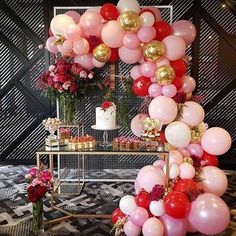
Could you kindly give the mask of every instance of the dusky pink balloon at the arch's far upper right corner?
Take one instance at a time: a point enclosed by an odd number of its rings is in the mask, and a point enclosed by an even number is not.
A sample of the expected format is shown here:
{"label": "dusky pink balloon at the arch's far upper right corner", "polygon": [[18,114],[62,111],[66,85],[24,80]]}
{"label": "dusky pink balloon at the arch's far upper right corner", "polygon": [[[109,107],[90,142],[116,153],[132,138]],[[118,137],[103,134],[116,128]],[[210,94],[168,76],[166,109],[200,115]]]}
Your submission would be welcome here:
{"label": "dusky pink balloon at the arch's far upper right corner", "polygon": [[196,28],[187,20],[179,20],[172,24],[172,33],[182,37],[185,43],[190,45],[196,37]]}

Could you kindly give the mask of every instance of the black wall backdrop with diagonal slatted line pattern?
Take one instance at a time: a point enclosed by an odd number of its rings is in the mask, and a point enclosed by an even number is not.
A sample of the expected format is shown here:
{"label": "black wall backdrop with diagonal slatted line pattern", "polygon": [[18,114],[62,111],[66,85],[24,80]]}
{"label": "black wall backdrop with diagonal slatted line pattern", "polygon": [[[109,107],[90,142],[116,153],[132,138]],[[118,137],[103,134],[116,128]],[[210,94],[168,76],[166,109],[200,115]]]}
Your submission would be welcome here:
{"label": "black wall backdrop with diagonal slatted line pattern", "polygon": [[[49,64],[49,55],[38,45],[47,38],[48,25],[54,6],[99,6],[107,1],[91,0],[1,0],[0,2],[0,154],[1,161],[8,164],[32,164],[35,151],[44,143],[46,135],[41,121],[55,114],[55,107],[40,96],[37,77]],[[110,1],[116,3],[116,1]],[[173,5],[173,20],[192,21],[198,35],[188,55],[193,57],[189,72],[198,81],[196,93],[202,95],[201,103],[206,110],[206,122],[210,126],[227,129],[234,140],[231,150],[220,158],[221,167],[236,165],[234,117],[236,76],[236,3],[233,0],[142,0],[141,5]],[[168,14],[163,14],[168,19]],[[129,66],[116,65],[116,74],[127,75]],[[108,68],[100,71],[107,76]],[[121,80],[116,80],[116,99],[125,99]],[[101,139],[99,131],[91,130],[95,122],[95,107],[101,102],[99,96],[87,97],[78,106],[77,117],[85,124],[85,131]],[[141,99],[126,101],[130,107],[129,120],[139,112]],[[130,129],[122,127],[111,132],[129,135]],[[134,168],[152,159],[129,157],[90,158],[86,168]]]}

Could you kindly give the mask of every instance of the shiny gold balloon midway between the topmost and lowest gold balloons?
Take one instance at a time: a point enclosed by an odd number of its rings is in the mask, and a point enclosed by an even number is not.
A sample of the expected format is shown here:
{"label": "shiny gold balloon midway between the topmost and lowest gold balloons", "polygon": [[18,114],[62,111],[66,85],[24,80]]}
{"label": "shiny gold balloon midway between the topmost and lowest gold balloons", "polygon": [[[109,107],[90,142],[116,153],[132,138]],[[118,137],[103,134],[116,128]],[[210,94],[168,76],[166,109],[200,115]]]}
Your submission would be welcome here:
{"label": "shiny gold balloon midway between the topmost and lowest gold balloons", "polygon": [[157,40],[152,40],[143,46],[143,56],[146,60],[156,62],[164,55],[164,44]]}

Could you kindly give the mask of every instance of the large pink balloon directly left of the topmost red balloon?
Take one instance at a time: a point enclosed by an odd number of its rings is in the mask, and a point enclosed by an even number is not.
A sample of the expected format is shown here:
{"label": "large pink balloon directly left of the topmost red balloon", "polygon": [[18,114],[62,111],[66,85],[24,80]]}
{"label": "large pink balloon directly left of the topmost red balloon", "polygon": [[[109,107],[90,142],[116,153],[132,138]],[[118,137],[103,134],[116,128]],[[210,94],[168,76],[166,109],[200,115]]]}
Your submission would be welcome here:
{"label": "large pink balloon directly left of the topmost red balloon", "polygon": [[100,37],[103,27],[102,16],[94,11],[87,11],[80,17],[80,27],[86,36],[95,35]]}

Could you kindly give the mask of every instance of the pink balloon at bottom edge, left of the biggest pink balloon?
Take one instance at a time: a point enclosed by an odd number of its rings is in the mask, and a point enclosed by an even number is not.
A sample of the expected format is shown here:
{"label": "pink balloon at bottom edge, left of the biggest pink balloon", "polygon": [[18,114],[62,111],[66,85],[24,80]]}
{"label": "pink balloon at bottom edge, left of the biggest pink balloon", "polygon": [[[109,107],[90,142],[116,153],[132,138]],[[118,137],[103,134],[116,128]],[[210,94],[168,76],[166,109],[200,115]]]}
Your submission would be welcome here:
{"label": "pink balloon at bottom edge, left of the biggest pink balloon", "polygon": [[160,217],[164,226],[164,236],[184,236],[187,233],[188,222],[184,219],[177,219],[165,214]]}

